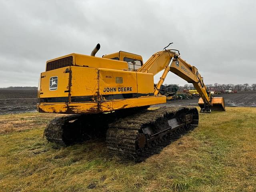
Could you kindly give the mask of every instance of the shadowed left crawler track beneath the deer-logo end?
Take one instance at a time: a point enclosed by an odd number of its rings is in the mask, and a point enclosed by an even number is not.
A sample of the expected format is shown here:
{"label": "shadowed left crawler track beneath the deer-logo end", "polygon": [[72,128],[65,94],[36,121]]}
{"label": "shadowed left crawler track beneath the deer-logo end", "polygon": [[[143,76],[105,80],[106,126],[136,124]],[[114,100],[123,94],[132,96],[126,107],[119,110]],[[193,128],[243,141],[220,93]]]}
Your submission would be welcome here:
{"label": "shadowed left crawler track beneath the deer-logo end", "polygon": [[54,118],[44,130],[44,136],[49,142],[67,146],[104,136],[113,119],[113,114],[75,114]]}

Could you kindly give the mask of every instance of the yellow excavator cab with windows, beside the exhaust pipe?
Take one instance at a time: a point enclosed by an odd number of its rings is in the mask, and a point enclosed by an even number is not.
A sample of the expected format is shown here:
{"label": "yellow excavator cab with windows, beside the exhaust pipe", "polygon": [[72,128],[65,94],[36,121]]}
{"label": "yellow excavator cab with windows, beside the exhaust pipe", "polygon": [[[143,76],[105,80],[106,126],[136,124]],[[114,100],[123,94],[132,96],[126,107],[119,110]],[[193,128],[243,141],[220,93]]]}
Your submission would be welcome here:
{"label": "yellow excavator cab with windows, beside the exhaust pipe", "polygon": [[125,61],[129,71],[137,71],[143,65],[142,56],[125,51],[104,55],[102,58]]}

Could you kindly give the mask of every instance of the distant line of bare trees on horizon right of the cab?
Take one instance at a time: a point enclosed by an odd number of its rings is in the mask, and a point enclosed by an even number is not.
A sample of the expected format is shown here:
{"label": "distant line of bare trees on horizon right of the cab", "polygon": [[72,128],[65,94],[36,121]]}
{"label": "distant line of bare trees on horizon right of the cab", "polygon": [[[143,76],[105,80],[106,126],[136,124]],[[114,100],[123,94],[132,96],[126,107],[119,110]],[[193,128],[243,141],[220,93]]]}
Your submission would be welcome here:
{"label": "distant line of bare trees on horizon right of the cab", "polygon": [[[168,86],[168,84],[164,84],[164,86]],[[177,85],[178,86],[178,85]],[[256,84],[249,85],[245,84],[206,84],[206,87],[209,90],[234,90],[234,91],[256,91]],[[178,90],[183,91],[184,89],[194,89],[193,84],[185,84],[184,86],[179,86]]]}

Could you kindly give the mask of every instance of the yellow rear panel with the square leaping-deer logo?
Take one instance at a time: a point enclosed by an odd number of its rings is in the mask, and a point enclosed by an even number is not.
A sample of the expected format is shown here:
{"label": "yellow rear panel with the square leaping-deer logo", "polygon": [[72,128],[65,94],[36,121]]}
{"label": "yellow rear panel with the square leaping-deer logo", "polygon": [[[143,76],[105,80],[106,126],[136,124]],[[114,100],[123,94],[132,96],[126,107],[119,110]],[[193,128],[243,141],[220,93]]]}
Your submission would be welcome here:
{"label": "yellow rear panel with the square leaping-deer logo", "polygon": [[[68,97],[69,73],[65,71],[69,67],[58,68],[41,73],[40,98]],[[50,87],[52,82],[52,87]],[[57,84],[57,88],[53,88]],[[50,90],[51,89],[51,90]]]}

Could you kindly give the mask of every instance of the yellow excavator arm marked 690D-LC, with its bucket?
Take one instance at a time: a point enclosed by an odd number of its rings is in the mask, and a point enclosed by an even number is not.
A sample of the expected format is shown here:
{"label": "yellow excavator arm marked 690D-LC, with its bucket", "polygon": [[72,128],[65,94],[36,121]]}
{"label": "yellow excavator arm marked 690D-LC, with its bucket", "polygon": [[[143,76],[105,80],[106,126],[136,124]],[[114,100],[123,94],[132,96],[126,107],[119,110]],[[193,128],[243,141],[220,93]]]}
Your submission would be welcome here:
{"label": "yellow excavator arm marked 690D-LC, with its bucket", "polygon": [[203,77],[198,72],[195,66],[191,66],[185,60],[179,57],[179,52],[174,50],[163,50],[153,54],[148,61],[138,69],[138,72],[158,74],[164,70],[160,80],[158,81],[154,95],[159,94],[160,86],[163,84],[169,71],[180,76],[188,83],[192,83],[194,88],[199,92],[199,106],[202,112],[210,112],[214,110],[225,110],[224,98],[213,98],[210,92],[207,91],[203,82]]}

